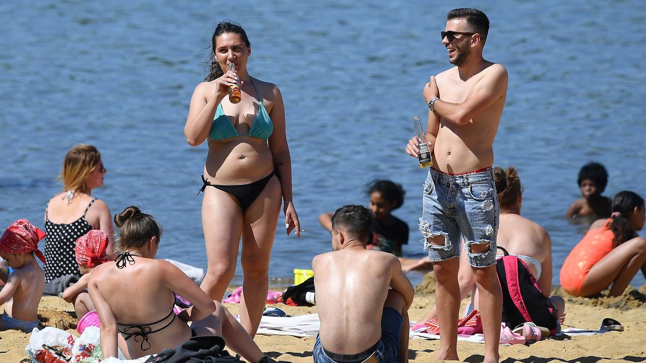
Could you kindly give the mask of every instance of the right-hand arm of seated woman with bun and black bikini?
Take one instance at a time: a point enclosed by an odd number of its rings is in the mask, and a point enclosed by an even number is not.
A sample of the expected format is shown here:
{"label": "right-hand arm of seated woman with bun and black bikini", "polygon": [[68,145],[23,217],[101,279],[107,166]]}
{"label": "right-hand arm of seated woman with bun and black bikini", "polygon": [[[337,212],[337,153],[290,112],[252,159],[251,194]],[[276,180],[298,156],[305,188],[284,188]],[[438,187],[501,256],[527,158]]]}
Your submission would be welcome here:
{"label": "right-hand arm of seated woman with bun and black bikini", "polygon": [[215,303],[209,295],[206,295],[182,270],[165,260],[157,260],[156,262],[163,281],[167,283],[169,289],[193,304],[178,314],[180,319],[185,322],[194,322],[202,320],[215,311]]}

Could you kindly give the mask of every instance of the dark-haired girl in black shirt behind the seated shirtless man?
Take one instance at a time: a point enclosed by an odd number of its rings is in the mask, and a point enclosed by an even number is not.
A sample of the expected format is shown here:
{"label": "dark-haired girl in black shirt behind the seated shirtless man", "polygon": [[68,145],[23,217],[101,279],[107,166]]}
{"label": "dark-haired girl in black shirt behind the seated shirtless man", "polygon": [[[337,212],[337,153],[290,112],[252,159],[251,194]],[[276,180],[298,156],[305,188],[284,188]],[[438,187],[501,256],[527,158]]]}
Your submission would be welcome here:
{"label": "dark-haired girl in black shirt behind the seated shirtless man", "polygon": [[[372,237],[368,249],[390,252],[401,256],[402,245],[408,244],[408,225],[391,212],[404,204],[404,189],[390,180],[374,180],[368,185],[370,211],[372,212]],[[332,231],[332,214],[323,213],[318,222]]]}

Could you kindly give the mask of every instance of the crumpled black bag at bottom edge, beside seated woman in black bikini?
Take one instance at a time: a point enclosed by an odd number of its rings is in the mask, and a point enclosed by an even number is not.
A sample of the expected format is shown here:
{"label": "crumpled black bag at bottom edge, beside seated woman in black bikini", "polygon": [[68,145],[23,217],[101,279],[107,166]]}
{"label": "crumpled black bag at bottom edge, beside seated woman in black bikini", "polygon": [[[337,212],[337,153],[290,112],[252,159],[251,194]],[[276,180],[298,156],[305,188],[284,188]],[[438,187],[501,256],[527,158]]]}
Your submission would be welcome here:
{"label": "crumpled black bag at bottom edge, beside seated woman in black bikini", "polygon": [[163,349],[161,353],[150,357],[145,363],[242,363],[238,358],[231,357],[224,350],[222,337],[193,337],[175,349]]}

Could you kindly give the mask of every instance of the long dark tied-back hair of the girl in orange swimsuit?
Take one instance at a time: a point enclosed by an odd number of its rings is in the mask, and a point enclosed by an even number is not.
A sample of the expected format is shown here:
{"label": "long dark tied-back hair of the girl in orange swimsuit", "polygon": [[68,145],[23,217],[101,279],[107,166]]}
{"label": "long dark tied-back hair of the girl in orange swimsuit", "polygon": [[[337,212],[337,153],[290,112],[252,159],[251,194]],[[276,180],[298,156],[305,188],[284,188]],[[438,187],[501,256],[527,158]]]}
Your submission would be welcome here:
{"label": "long dark tied-back hair of the girl in orange swimsuit", "polygon": [[612,240],[612,247],[617,247],[623,242],[635,238],[637,233],[632,229],[630,223],[630,214],[634,213],[635,208],[641,209],[644,207],[644,200],[634,192],[622,191],[618,192],[612,200],[612,216],[610,219],[610,229],[614,233],[614,240]]}

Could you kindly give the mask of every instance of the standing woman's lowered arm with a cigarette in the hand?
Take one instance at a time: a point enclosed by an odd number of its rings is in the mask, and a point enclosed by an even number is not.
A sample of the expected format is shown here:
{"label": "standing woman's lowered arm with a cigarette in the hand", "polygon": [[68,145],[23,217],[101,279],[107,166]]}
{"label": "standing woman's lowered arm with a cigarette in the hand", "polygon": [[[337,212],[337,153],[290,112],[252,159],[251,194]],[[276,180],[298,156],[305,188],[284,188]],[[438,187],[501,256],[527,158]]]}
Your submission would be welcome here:
{"label": "standing woman's lowered arm with a cigarette in the hand", "polygon": [[291,156],[289,155],[289,145],[287,145],[285,105],[280,90],[276,86],[273,87],[273,96],[275,101],[273,107],[271,107],[271,112],[269,112],[269,117],[274,124],[274,130],[269,137],[269,150],[280,178],[287,236],[293,229],[296,229],[296,234],[300,237],[300,222],[294,207],[291,189]]}

